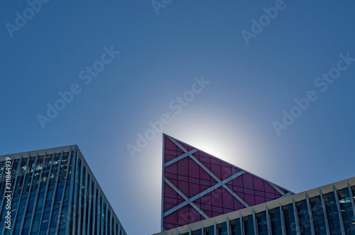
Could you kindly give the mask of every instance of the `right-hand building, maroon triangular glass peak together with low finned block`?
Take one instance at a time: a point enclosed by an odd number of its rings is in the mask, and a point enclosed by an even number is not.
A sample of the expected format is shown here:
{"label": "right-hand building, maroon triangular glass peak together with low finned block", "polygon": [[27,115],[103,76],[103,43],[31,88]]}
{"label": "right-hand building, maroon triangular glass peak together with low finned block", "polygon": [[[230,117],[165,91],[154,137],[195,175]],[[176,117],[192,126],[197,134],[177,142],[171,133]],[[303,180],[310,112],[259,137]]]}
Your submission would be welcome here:
{"label": "right-hand building, maroon triangular glass peak together with low finned block", "polygon": [[295,194],[168,135],[163,144],[156,235],[355,235],[355,178]]}

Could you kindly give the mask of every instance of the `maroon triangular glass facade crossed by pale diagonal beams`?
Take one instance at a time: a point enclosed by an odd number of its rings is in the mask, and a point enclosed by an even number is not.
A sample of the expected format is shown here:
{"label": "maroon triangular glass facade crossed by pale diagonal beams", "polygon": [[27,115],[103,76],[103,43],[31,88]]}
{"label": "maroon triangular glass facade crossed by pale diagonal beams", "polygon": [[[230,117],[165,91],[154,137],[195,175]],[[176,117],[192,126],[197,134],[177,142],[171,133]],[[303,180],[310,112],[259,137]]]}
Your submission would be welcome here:
{"label": "maroon triangular glass facade crossed by pale diagonal beams", "polygon": [[163,135],[162,231],[293,194]]}

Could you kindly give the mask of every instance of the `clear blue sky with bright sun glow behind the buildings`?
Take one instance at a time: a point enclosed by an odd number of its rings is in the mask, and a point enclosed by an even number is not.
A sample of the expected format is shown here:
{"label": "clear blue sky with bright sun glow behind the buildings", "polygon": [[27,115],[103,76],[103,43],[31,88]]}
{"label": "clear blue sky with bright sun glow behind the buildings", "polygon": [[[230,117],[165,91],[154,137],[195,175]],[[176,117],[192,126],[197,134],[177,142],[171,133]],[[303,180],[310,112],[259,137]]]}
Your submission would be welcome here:
{"label": "clear blue sky with bright sun glow behind the buildings", "polygon": [[29,2],[0,155],[78,144],[129,234],[160,231],[163,132],[295,193],[354,177],[354,1]]}

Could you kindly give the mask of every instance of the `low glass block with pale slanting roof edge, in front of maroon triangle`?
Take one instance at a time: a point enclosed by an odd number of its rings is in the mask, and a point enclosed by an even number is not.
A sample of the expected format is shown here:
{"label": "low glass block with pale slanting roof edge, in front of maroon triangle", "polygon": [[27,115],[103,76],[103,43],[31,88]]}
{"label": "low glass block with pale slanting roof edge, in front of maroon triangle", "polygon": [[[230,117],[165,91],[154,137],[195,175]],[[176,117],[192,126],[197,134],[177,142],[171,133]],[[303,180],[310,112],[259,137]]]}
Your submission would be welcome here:
{"label": "low glass block with pale slanting roof edge, in front of maroon triangle", "polygon": [[155,235],[354,235],[355,178]]}

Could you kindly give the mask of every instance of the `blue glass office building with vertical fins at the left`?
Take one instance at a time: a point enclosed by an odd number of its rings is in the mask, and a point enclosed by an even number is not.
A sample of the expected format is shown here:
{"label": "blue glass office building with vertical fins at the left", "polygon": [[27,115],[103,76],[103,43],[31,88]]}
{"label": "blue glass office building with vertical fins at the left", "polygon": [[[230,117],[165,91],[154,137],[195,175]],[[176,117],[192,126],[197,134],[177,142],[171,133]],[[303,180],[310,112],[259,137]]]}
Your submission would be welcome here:
{"label": "blue glass office building with vertical fins at the left", "polygon": [[76,145],[0,156],[0,178],[0,234],[126,235]]}

